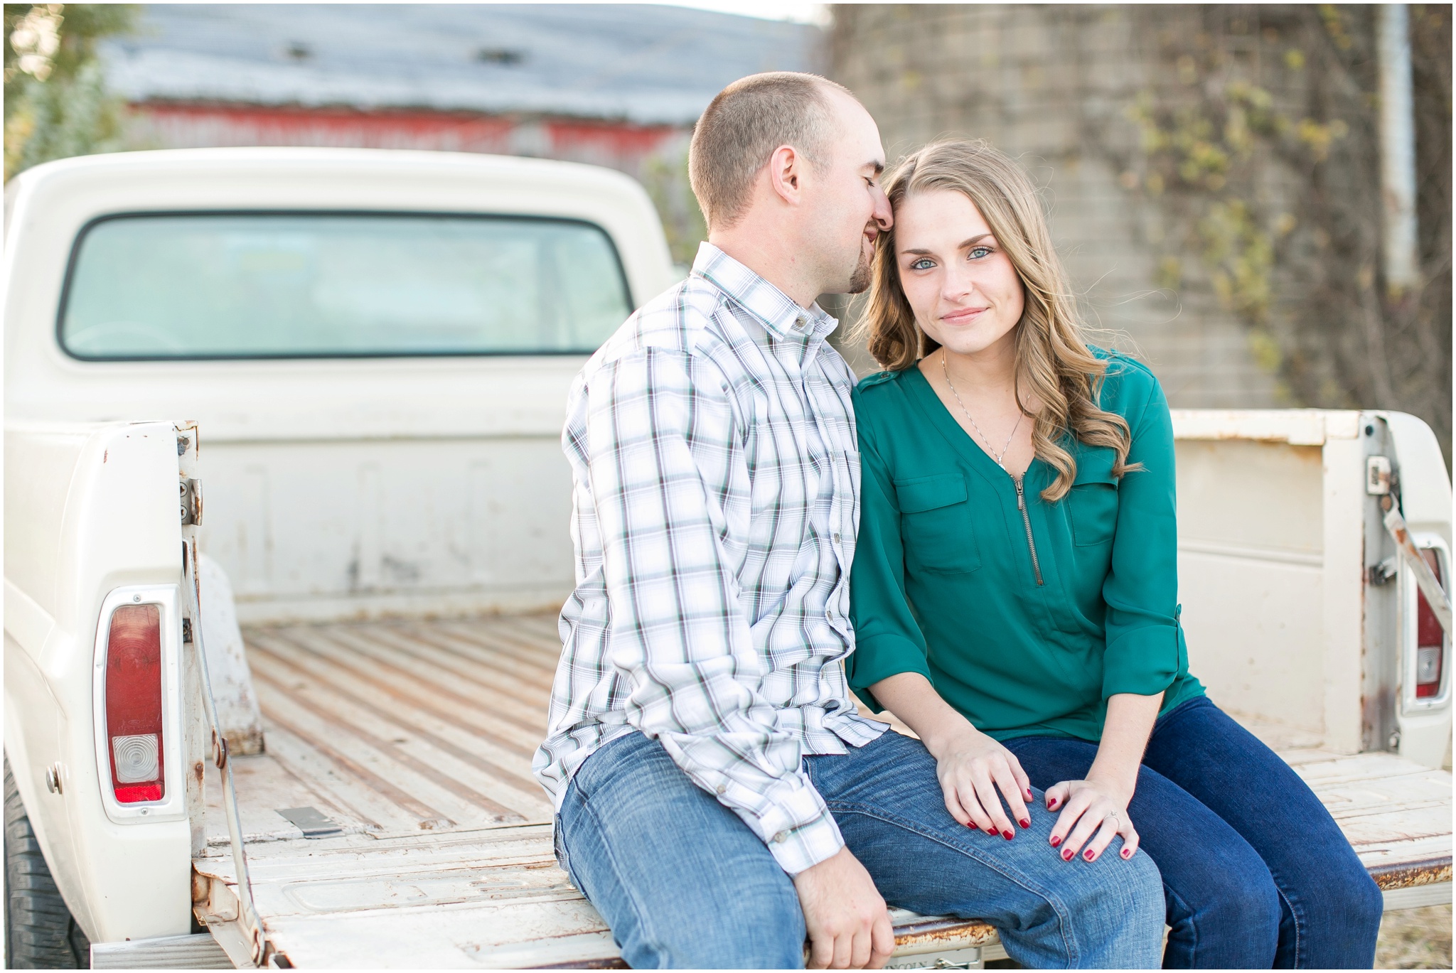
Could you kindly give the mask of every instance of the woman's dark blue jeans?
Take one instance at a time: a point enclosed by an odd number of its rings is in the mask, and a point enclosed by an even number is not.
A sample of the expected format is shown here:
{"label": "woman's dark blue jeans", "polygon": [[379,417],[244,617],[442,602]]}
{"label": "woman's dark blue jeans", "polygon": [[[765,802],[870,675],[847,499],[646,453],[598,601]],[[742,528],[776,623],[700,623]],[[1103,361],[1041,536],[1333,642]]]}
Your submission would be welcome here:
{"label": "woman's dark blue jeans", "polygon": [[[1034,787],[1096,746],[1018,737]],[[1128,804],[1168,899],[1168,969],[1370,969],[1385,907],[1340,826],[1277,753],[1207,698],[1160,717]]]}

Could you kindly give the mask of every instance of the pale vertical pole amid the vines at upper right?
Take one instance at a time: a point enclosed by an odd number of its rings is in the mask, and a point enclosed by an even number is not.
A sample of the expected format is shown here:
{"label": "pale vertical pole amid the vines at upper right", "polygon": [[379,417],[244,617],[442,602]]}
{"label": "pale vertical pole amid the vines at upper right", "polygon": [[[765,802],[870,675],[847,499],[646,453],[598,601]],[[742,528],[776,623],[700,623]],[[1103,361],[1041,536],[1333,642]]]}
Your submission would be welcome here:
{"label": "pale vertical pole amid the vines at upper right", "polygon": [[1411,25],[1404,3],[1376,7],[1380,68],[1380,198],[1385,284],[1401,299],[1421,284],[1415,236],[1415,117],[1411,101]]}

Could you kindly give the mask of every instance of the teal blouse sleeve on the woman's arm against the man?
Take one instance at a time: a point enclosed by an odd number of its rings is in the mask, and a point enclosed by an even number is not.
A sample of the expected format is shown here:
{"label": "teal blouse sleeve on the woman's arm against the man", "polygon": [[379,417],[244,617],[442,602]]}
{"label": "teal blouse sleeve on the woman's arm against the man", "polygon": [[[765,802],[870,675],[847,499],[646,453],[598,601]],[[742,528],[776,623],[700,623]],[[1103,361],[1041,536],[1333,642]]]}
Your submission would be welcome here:
{"label": "teal blouse sleeve on the woman's arm against the man", "polygon": [[[930,679],[925,635],[906,597],[900,508],[869,422],[859,422],[859,540],[850,570],[849,603],[855,651],[844,663],[849,685],[875,712],[884,706],[868,686],[897,673]],[[933,679],[930,679],[933,685]]]}

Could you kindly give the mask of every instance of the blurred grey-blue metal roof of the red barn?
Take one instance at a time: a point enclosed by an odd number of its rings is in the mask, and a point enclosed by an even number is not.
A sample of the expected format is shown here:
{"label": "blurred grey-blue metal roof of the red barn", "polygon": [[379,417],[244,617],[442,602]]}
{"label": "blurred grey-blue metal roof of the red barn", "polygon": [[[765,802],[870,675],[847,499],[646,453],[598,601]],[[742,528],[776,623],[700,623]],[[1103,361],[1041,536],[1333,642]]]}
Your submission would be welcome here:
{"label": "blurred grey-blue metal roof of the red barn", "polygon": [[690,124],[737,77],[814,70],[821,36],[638,4],[149,4],[102,54],[131,101]]}

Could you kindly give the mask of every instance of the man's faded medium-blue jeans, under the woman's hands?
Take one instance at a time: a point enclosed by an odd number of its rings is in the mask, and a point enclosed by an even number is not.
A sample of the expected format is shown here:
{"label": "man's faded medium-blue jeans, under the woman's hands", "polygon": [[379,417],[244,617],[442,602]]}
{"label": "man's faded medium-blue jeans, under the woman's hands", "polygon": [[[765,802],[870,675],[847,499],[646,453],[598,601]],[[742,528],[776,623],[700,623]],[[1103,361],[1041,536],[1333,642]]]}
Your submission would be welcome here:
{"label": "man's faded medium-blue jeans, under the woman's hands", "polygon": [[[1005,840],[955,823],[935,759],[885,733],[843,756],[805,757],[850,852],[893,906],[984,919],[1031,967],[1156,967],[1163,894],[1147,855],[1066,862],[1032,826]],[[795,969],[804,913],[794,881],[737,814],[655,740],[613,740],[577,771],[556,819],[572,881],[645,967]]]}

